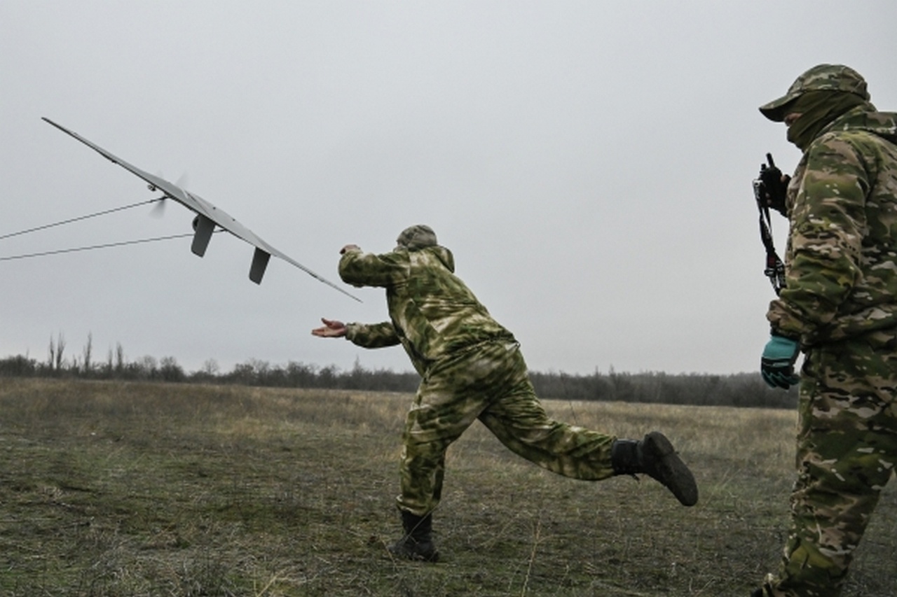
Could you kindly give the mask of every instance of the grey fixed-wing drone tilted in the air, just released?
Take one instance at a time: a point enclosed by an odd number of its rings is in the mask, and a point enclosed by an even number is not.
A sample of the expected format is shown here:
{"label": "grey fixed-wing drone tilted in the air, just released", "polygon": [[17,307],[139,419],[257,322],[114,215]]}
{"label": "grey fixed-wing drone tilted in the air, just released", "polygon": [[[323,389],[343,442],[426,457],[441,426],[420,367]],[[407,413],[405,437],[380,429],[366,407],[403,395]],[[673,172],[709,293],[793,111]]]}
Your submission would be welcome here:
{"label": "grey fixed-wing drone tilted in the air, just released", "polygon": [[99,145],[96,145],[94,143],[91,143],[87,139],[84,139],[80,134],[68,130],[67,128],[65,128],[65,126],[57,125],[57,123],[53,122],[49,118],[45,117],[43,119],[46,120],[50,125],[56,126],[63,133],[73,136],[81,143],[84,143],[94,151],[97,151],[107,160],[111,160],[112,163],[118,164],[132,174],[135,174],[137,177],[143,178],[144,181],[149,183],[151,187],[161,190],[161,192],[164,193],[166,197],[174,199],[178,203],[187,207],[187,209],[196,212],[196,221],[194,222],[194,228],[196,229],[196,231],[193,236],[193,245],[190,247],[194,254],[199,255],[200,257],[205,255],[205,248],[209,245],[209,241],[212,238],[215,226],[219,226],[222,229],[230,232],[233,236],[242,238],[253,247],[256,247],[255,254],[252,256],[252,265],[249,268],[249,279],[251,281],[254,281],[257,284],[261,283],[262,276],[265,275],[265,269],[267,267],[268,261],[271,259],[271,255],[275,255],[283,259],[283,261],[295,265],[303,272],[308,273],[313,278],[316,278],[318,281],[324,282],[325,284],[327,284],[327,286],[335,288],[336,290],[342,292],[344,295],[361,302],[361,299],[354,297],[352,294],[349,294],[345,290],[336,286],[333,282],[328,281],[327,279],[319,276],[317,273],[312,272],[311,270],[309,270],[309,268],[293,260],[288,255],[284,255],[281,251],[266,243],[262,238],[259,238],[255,232],[240,224],[239,221],[236,221],[229,213],[224,212],[224,210],[218,207],[215,207],[212,203],[205,201],[205,199],[203,199],[199,195],[188,193],[180,186],[170,183],[164,178],[154,176],[149,172],[144,172],[144,170],[139,169],[136,166],[132,166],[125,160],[122,160],[112,153],[109,153],[109,151],[104,150]]}

